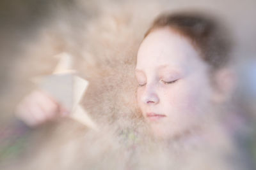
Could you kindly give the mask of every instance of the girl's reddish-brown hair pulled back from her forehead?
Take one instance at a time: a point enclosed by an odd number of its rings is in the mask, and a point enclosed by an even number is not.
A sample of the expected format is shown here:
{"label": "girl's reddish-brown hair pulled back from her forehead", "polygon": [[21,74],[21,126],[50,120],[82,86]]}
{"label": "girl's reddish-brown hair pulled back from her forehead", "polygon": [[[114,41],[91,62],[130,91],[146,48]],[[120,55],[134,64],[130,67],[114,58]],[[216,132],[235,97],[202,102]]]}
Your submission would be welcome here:
{"label": "girl's reddish-brown hair pulled back from her forehead", "polygon": [[213,17],[202,13],[164,13],[154,20],[144,38],[150,32],[170,27],[191,40],[201,57],[213,70],[225,66],[230,60],[231,39],[227,29]]}

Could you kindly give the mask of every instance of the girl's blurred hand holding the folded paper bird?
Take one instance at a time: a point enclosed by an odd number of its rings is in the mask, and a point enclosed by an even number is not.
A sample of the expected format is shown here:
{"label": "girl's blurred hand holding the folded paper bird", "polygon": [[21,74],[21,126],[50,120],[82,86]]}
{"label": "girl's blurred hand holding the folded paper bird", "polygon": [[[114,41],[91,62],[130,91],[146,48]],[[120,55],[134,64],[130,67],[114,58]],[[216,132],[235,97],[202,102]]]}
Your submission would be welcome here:
{"label": "girl's blurred hand holding the folded paper bird", "polygon": [[42,91],[24,97],[15,111],[15,115],[31,127],[67,114],[68,110]]}

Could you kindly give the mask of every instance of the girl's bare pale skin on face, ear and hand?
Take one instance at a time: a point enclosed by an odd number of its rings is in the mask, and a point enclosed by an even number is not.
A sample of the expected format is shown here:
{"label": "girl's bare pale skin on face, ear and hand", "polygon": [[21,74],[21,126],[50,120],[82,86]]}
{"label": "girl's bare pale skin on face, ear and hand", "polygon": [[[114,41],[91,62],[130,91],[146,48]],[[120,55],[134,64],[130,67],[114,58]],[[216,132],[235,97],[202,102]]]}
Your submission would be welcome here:
{"label": "girl's bare pale skin on face, ear and hand", "polygon": [[[205,115],[209,117],[212,104],[225,101],[233,85],[230,72],[216,72],[216,84],[221,87],[216,90],[210,85],[208,69],[191,41],[170,28],[150,32],[143,40],[136,64],[137,101],[155,136],[186,134],[198,128]],[[18,104],[15,113],[35,127],[69,111],[49,94],[36,90]]]}

